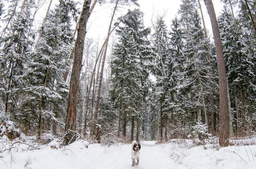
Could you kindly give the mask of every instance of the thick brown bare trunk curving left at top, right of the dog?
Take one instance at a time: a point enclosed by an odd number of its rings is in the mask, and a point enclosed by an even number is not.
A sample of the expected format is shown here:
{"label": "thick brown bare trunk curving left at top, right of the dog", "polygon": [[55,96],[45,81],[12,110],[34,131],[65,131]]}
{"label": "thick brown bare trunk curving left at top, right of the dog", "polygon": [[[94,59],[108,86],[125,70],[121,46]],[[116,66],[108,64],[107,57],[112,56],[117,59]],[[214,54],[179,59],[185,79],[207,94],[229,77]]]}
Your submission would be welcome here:
{"label": "thick brown bare trunk curving left at top, right of the dog", "polygon": [[222,42],[219,34],[218,22],[212,0],[204,0],[209,17],[212,23],[214,44],[217,54],[217,67],[219,74],[219,145],[228,146],[229,144],[229,124],[228,124],[228,96],[227,96],[227,75],[225,60],[222,49]]}

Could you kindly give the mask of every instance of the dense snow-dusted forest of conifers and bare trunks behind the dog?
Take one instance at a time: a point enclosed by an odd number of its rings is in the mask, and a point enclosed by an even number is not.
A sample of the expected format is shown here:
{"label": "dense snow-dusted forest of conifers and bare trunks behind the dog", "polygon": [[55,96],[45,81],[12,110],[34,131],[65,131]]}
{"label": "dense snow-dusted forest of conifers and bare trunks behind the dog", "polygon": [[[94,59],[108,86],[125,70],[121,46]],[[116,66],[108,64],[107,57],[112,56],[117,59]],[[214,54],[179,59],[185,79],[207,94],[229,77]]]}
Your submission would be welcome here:
{"label": "dense snow-dusted forest of conifers and bare trunks behind the dog", "polygon": [[[179,1],[147,27],[138,0],[1,0],[0,140],[255,137],[256,1],[220,0],[217,17],[215,0]],[[104,5],[105,36],[87,38]]]}

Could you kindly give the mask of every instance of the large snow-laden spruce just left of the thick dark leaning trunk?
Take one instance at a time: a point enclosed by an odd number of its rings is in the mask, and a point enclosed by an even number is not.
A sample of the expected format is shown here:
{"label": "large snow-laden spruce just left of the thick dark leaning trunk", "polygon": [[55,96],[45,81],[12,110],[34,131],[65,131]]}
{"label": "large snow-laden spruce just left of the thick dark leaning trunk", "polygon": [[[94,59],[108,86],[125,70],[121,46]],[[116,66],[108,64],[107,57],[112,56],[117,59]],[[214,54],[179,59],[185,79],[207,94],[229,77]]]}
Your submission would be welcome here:
{"label": "large snow-laden spruce just left of the thick dark leaning trunk", "polygon": [[[39,138],[43,119],[48,127],[48,124],[63,122],[65,118],[68,84],[63,81],[63,73],[70,66],[68,56],[74,42],[71,17],[75,15],[76,3],[73,0],[59,1],[43,25],[38,51],[31,54],[32,60],[28,64],[25,78],[29,85],[24,90],[29,93],[29,99],[23,117],[28,125],[31,122],[39,125]],[[39,119],[38,123],[34,118]]]}

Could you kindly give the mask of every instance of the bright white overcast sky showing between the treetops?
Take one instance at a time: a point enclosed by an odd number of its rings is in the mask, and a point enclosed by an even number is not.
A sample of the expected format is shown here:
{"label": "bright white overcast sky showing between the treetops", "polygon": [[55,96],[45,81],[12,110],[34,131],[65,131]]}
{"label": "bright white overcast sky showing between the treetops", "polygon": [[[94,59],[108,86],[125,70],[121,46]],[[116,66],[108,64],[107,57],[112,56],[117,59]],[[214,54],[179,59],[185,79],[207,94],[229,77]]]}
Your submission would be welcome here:
{"label": "bright white overcast sky showing between the treetops", "polygon": [[[78,1],[80,1],[81,4],[83,3],[83,0]],[[35,22],[36,27],[39,27],[40,23],[42,22],[49,2],[50,0],[48,0],[47,3],[45,3],[44,8],[42,8],[42,10],[37,13],[37,21]],[[211,22],[206,12],[204,1],[200,0],[200,2],[204,12],[204,18],[206,20],[206,27],[208,28],[210,35],[212,35]],[[218,16],[222,11],[223,4],[220,2],[220,0],[212,0],[212,2],[214,4],[216,15]],[[51,9],[54,8],[55,4],[57,3],[58,0],[53,0]],[[138,0],[138,3],[140,7],[124,6],[119,8],[115,15],[115,20],[119,16],[124,15],[128,9],[140,8],[140,10],[144,13],[144,25],[146,27],[151,26],[152,17],[154,21],[154,18],[157,14],[163,15],[165,13],[165,23],[168,29],[170,29],[171,20],[175,17],[175,15],[177,15],[181,0]],[[95,41],[97,41],[99,38],[100,42],[104,40],[105,36],[107,35],[113,7],[114,4],[110,3],[103,5],[97,4],[95,6],[87,24],[87,38],[94,38]],[[109,44],[111,44],[111,42]]]}

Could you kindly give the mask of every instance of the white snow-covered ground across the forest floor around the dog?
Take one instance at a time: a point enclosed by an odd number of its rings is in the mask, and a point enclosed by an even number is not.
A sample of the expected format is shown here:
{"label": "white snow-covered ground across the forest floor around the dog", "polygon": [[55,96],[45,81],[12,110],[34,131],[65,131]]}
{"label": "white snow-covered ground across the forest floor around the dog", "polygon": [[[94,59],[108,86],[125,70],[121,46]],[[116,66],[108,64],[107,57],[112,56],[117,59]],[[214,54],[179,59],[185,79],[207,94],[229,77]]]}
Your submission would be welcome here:
{"label": "white snow-covered ground across the forest floor around the dog", "polygon": [[[256,145],[216,149],[211,144],[191,147],[178,141],[155,144],[141,142],[140,169],[255,169]],[[0,145],[4,145],[3,142]],[[14,144],[0,153],[0,169],[133,169],[131,145],[102,146],[76,141],[61,149],[50,145],[27,150],[26,144]],[[8,147],[8,146],[6,146]],[[5,147],[5,148],[6,148]],[[3,148],[3,147],[2,147]],[[31,149],[31,147],[29,147]],[[3,149],[2,149],[3,151]]]}

